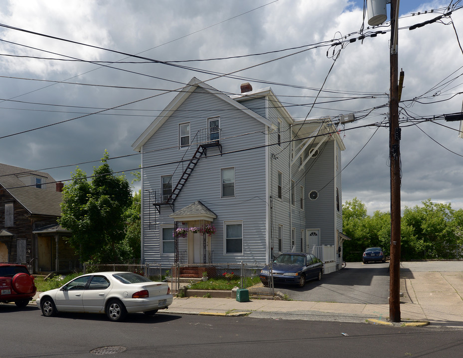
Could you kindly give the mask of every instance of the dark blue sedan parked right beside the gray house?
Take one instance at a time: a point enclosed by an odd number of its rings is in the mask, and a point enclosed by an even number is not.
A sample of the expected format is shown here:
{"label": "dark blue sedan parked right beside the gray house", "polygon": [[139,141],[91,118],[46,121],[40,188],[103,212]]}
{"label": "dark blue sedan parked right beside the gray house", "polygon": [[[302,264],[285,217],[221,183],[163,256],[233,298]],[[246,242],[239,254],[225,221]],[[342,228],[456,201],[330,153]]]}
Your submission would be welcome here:
{"label": "dark blue sedan parked right beside the gray house", "polygon": [[[304,287],[308,280],[321,280],[323,263],[312,254],[283,253],[272,262],[272,272],[274,283]],[[261,270],[259,277],[264,285],[268,285],[272,272],[269,265]]]}

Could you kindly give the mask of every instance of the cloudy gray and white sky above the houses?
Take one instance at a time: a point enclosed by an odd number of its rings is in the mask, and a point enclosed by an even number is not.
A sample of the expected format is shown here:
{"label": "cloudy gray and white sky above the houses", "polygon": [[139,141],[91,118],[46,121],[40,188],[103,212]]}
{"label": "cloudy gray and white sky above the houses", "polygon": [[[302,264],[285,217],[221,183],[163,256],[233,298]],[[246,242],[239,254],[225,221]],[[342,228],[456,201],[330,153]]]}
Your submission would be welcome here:
{"label": "cloudy gray and white sky above the houses", "polygon": [[[409,29],[449,5],[450,16]],[[462,5],[400,2],[402,208],[427,198],[463,207],[460,122],[424,120],[462,111]],[[227,93],[250,82],[270,86],[296,119],[355,113],[339,127],[342,199],[389,211],[389,130],[378,124],[388,117],[390,24],[369,27],[362,0],[1,0],[0,15],[0,163],[67,180],[107,149],[131,180],[131,145],[172,90],[193,76]],[[79,167],[90,175],[95,165]]]}

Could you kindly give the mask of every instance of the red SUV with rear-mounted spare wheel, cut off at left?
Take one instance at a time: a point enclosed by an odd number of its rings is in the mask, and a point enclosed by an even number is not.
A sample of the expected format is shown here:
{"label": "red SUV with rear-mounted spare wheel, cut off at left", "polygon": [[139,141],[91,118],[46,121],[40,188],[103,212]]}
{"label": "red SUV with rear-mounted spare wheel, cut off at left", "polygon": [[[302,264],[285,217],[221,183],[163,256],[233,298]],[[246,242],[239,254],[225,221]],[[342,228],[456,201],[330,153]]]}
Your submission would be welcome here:
{"label": "red SUV with rear-mounted spare wheel, cut off at left", "polygon": [[0,303],[14,302],[23,308],[36,291],[34,277],[24,265],[0,264]]}

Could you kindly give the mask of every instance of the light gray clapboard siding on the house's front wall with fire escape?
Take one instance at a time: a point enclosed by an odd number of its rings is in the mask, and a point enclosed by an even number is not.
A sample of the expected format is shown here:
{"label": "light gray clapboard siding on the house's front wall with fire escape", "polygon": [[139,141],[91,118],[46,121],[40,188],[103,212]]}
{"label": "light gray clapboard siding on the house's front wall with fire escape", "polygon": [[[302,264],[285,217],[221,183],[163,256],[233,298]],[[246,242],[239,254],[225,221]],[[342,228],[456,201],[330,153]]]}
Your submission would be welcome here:
{"label": "light gray clapboard siding on the house's front wall with fire escape", "polygon": [[[216,215],[213,225],[217,233],[212,235],[211,250],[214,263],[255,262],[266,259],[266,182],[265,147],[242,151],[246,148],[265,144],[265,125],[251,118],[243,111],[226,103],[217,96],[196,89],[168,118],[151,139],[143,146],[143,259],[163,265],[173,263],[173,256],[160,255],[159,226],[154,226],[154,217],[159,224],[173,225],[169,206],[162,206],[160,215],[150,205],[148,190],[160,189],[160,177],[171,175],[177,164],[149,168],[152,165],[191,159],[196,145],[185,153],[178,149],[178,124],[190,122],[190,140],[195,133],[207,127],[207,118],[220,116],[221,144],[224,154],[218,148],[207,149],[207,157],[202,157],[187,183],[175,200],[178,210],[196,200],[200,200]],[[243,135],[251,133],[248,135]],[[237,135],[242,135],[235,137]],[[173,147],[173,148],[172,148]],[[161,148],[169,148],[155,151]],[[237,153],[230,153],[238,151]],[[180,165],[172,179],[174,187],[180,178],[185,162]],[[147,168],[148,167],[148,168]],[[235,168],[235,197],[221,198],[221,169]],[[150,212],[151,209],[151,212]],[[151,217],[151,219],[150,219]],[[243,254],[224,255],[223,223],[229,220],[243,221]],[[151,222],[151,225],[150,225]],[[186,251],[186,239],[179,240],[179,250]]]}

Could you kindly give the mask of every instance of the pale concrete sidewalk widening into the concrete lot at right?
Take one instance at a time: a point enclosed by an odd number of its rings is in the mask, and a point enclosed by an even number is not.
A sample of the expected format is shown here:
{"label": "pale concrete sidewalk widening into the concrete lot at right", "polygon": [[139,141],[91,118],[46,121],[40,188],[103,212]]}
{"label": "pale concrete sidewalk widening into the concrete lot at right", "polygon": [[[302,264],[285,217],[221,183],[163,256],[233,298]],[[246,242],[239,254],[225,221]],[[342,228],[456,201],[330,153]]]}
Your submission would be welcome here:
{"label": "pale concrete sidewalk widening into the concrete lot at right", "polygon": [[[463,327],[463,272],[414,272],[401,277],[400,288],[401,323],[395,325]],[[391,324],[388,304],[184,297],[160,312]]]}

